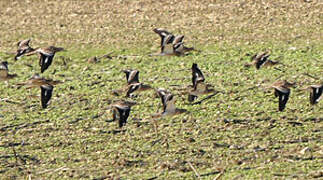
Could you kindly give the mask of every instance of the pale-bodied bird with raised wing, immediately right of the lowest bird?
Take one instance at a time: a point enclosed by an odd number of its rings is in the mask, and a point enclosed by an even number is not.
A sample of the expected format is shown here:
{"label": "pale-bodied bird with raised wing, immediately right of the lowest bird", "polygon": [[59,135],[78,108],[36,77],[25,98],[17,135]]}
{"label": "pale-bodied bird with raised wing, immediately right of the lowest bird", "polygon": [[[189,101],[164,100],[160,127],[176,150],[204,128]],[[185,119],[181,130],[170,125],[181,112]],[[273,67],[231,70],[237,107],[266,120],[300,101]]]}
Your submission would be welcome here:
{"label": "pale-bodied bird with raised wing, immediately right of the lowest bird", "polygon": [[165,89],[158,89],[157,94],[160,96],[163,104],[163,111],[161,113],[153,114],[153,118],[163,116],[173,116],[187,112],[186,109],[179,109],[175,106],[175,97]]}

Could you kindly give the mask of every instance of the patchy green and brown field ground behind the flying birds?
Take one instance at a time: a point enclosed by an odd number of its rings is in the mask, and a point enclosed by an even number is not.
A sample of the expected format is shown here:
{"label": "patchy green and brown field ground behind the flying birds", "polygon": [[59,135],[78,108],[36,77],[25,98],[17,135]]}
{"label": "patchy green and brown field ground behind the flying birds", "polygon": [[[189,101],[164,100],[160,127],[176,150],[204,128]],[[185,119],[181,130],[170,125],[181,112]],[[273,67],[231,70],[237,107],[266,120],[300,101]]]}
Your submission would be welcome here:
{"label": "patchy green and brown field ground behind the flying birds", "polygon": [[[5,0],[0,7],[0,58],[19,75],[0,82],[0,179],[322,178],[323,102],[311,106],[302,90],[322,81],[321,1]],[[147,56],[159,51],[156,27],[184,34],[201,52]],[[46,110],[34,98],[39,89],[15,86],[40,71],[36,57],[13,60],[24,38],[67,49],[42,74],[64,81]],[[244,67],[248,54],[265,50],[282,71]],[[87,62],[109,52],[112,59]],[[178,90],[191,83],[193,62],[222,91],[199,105]],[[123,99],[111,91],[125,85],[127,68],[171,90],[190,113],[158,120],[156,133],[151,114],[161,111],[160,99],[142,93],[119,130],[108,106]],[[297,82],[284,112],[264,88],[276,79]]]}

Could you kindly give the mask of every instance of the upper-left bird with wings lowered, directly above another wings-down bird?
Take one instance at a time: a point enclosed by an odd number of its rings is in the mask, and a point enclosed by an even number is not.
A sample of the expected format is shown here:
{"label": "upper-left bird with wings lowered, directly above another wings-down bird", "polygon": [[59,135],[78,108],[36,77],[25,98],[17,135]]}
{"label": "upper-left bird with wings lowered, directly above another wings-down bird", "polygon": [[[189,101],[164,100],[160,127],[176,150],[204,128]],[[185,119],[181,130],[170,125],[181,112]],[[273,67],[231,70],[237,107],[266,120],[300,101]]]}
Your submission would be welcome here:
{"label": "upper-left bird with wings lowered, directly above another wings-down bird", "polygon": [[64,48],[49,46],[46,48],[37,48],[34,51],[27,53],[26,55],[40,54],[39,66],[41,67],[41,73],[45,72],[46,69],[52,64],[55,53],[64,51]]}

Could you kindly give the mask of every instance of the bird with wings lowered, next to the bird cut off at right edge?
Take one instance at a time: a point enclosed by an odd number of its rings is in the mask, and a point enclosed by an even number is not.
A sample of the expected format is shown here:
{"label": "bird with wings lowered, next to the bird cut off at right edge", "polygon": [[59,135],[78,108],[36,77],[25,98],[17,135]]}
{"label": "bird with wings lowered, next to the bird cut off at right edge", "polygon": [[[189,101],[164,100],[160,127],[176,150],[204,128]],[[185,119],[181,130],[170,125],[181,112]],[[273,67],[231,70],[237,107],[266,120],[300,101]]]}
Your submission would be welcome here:
{"label": "bird with wings lowered, next to the bird cut off at right edge", "polygon": [[278,97],[279,106],[278,110],[283,111],[286,107],[290,96],[290,88],[294,87],[295,83],[290,83],[288,81],[276,81],[270,87],[275,89],[275,97]]}

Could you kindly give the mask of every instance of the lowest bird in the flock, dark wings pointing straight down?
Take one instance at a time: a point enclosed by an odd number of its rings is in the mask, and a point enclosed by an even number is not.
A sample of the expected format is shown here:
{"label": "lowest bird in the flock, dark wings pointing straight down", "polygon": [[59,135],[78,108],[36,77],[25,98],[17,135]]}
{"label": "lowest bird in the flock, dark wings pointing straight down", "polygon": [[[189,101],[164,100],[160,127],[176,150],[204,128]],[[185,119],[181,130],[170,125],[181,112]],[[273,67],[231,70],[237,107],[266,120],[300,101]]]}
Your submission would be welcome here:
{"label": "lowest bird in the flock, dark wings pointing straight down", "polygon": [[118,120],[119,128],[127,123],[131,107],[135,104],[135,102],[119,101],[111,105],[113,110],[113,121]]}

